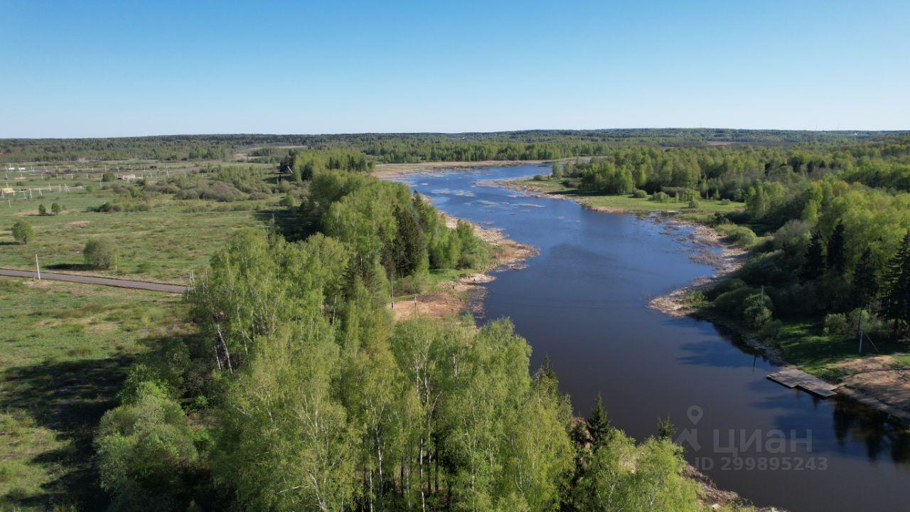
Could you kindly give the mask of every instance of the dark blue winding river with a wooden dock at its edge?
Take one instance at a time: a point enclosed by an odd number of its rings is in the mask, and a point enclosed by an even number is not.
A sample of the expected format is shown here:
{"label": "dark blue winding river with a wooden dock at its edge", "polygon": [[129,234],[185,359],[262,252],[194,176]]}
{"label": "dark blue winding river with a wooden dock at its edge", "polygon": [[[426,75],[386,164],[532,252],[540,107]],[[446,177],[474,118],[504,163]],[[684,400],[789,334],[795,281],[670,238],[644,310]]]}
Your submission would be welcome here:
{"label": "dark blue winding river with a wooden dock at its edge", "polygon": [[775,365],[730,333],[647,307],[713,273],[691,258],[689,229],[484,183],[546,172],[525,165],[400,180],[440,210],[540,249],[527,268],[495,274],[480,320],[511,318],[534,368],[549,354],[579,414],[600,393],[612,424],[637,439],[669,416],[686,458],[756,505],[910,509],[910,439],[883,415],[774,384],[765,375]]}

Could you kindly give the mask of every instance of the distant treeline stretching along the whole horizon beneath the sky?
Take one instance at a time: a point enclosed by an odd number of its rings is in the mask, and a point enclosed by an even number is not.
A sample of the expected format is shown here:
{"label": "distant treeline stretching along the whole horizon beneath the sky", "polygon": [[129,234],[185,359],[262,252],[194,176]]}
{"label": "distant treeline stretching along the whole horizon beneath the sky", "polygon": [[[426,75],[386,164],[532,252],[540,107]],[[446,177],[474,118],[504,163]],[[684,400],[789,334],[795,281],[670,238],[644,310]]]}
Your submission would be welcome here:
{"label": "distant treeline stretching along the whole horizon beneath the sky", "polygon": [[618,146],[704,147],[713,144],[846,143],[906,137],[888,131],[789,131],[717,128],[524,130],[490,133],[365,133],[336,135],[176,135],[130,138],[7,138],[0,161],[78,159],[231,159],[235,152],[274,161],[287,146],[352,149],[381,162],[555,159],[602,155]]}

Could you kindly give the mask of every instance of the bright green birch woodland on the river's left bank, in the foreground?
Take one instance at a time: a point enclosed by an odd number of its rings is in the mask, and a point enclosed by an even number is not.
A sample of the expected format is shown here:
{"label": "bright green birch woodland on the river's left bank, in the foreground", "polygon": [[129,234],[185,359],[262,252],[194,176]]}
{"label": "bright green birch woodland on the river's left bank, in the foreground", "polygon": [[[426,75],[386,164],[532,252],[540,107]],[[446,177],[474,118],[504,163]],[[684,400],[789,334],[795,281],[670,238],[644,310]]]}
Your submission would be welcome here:
{"label": "bright green birch woodland on the river's left bank, in the foreground", "polygon": [[[339,156],[291,164],[313,169],[287,207],[317,231],[238,230],[187,294],[198,332],[130,370],[95,440],[112,509],[703,509],[667,432],[636,443],[600,403],[573,417],[507,320],[394,323],[393,286],[489,250]],[[146,188],[197,189],[181,179]]]}

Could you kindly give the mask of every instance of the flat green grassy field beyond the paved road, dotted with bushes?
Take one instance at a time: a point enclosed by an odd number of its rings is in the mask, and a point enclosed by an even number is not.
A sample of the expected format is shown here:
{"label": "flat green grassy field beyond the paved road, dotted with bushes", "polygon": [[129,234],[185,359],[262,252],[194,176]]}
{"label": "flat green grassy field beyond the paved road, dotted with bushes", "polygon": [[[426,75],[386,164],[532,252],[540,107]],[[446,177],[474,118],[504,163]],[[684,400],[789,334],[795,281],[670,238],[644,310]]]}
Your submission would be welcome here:
{"label": "flat green grassy field beyond the paved road, dotted with bushes", "polygon": [[[33,199],[23,199],[18,193],[15,200],[0,202],[0,267],[34,269],[36,254],[42,269],[49,271],[186,282],[189,272],[201,270],[231,231],[270,223],[280,198],[219,203],[177,200],[160,194],[148,200],[147,211],[93,212],[87,209],[115,200],[117,194],[99,189],[97,183],[90,191],[46,190],[48,185],[54,190],[59,190],[62,183],[73,186],[74,182],[66,179],[32,180],[23,186],[41,183],[45,187],[41,196],[33,192]],[[50,211],[54,202],[65,210],[59,215],[38,215],[39,204]],[[34,241],[20,244],[13,240],[10,230],[16,220],[32,225]],[[116,241],[116,270],[91,271],[83,265],[82,249],[95,236]]]}

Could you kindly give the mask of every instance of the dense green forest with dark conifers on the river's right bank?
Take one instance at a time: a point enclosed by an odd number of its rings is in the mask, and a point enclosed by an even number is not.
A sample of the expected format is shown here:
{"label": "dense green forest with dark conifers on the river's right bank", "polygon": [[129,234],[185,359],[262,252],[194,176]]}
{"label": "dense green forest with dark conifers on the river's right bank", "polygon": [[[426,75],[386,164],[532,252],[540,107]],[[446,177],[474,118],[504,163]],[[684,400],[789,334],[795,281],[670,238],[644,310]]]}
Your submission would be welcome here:
{"label": "dense green forest with dark conifers on the river's right bank", "polygon": [[[618,148],[554,169],[573,188],[655,201],[744,201],[708,220],[753,249],[692,299],[773,340],[781,321],[906,336],[910,138],[794,148]],[[762,292],[762,287],[764,292]],[[764,301],[764,302],[762,302]],[[887,328],[890,325],[890,328]]]}

